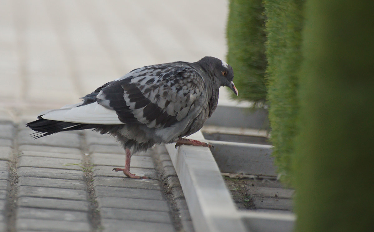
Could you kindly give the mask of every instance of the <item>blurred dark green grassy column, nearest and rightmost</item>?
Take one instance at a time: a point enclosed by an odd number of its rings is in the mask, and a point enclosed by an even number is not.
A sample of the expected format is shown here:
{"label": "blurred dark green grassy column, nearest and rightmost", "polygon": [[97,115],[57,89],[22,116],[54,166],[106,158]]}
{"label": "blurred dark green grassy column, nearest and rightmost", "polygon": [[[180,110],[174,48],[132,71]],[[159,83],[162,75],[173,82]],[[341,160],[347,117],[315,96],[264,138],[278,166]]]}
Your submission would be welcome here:
{"label": "blurred dark green grassy column, nearest and rightmost", "polygon": [[374,1],[308,0],[297,231],[373,231]]}

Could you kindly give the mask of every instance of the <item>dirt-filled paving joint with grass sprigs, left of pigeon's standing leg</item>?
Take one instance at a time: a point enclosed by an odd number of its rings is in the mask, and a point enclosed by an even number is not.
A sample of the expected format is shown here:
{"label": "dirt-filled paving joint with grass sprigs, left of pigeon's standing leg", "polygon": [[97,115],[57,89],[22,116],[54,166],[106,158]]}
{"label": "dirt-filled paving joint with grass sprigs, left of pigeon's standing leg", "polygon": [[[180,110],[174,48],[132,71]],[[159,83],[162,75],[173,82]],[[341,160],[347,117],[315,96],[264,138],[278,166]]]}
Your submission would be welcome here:
{"label": "dirt-filled paving joint with grass sprigs, left of pigeon's standing leg", "polygon": [[88,145],[86,143],[86,135],[84,133],[80,133],[80,141],[82,147],[82,164],[83,167],[87,168],[83,170],[84,173],[84,181],[86,185],[86,192],[88,193],[88,220],[91,226],[91,231],[102,231],[101,225],[101,214],[99,209],[99,203],[97,202],[97,196],[95,193],[94,188],[94,178],[93,178],[93,170],[90,167],[92,165],[92,158],[91,154],[88,152]]}

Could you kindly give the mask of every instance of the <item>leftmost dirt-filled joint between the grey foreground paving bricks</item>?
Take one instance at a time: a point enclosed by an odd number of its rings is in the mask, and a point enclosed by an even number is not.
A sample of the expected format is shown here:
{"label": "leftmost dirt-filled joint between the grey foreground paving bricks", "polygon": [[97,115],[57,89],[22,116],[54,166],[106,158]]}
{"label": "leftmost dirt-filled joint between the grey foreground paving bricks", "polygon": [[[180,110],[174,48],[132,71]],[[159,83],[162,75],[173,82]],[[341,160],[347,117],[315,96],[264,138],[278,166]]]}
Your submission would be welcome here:
{"label": "leftmost dirt-filled joint between the grey foreground paving bricks", "polygon": [[5,206],[5,222],[7,232],[16,232],[16,214],[17,214],[17,190],[18,190],[18,174],[17,174],[17,164],[18,164],[18,136],[19,132],[18,126],[15,125],[13,129],[13,153],[9,161],[9,173],[8,173],[8,192],[6,196],[6,206]]}

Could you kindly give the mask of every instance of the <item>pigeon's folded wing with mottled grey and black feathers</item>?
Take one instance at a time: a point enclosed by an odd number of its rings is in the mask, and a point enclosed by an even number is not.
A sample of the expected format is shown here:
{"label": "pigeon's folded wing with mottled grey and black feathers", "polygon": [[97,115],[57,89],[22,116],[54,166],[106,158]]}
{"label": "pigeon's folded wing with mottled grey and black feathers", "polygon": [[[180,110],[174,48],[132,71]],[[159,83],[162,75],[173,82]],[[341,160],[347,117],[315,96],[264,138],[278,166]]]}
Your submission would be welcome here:
{"label": "pigeon's folded wing with mottled grey and black feathers", "polygon": [[200,74],[184,63],[152,65],[126,74],[97,98],[99,104],[116,110],[124,123],[159,128],[196,117],[206,101],[204,88]]}

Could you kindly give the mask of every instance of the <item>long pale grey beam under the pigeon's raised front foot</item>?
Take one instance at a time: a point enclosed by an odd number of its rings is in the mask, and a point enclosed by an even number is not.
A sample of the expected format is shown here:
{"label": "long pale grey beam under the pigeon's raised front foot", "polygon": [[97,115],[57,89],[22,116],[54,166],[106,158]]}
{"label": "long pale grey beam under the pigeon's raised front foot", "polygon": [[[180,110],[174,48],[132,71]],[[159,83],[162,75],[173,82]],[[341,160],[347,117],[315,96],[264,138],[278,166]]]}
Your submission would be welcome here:
{"label": "long pale grey beam under the pigeon's raised front foot", "polygon": [[[201,132],[189,138],[204,140]],[[196,232],[245,232],[220,170],[206,147],[166,144]]]}

